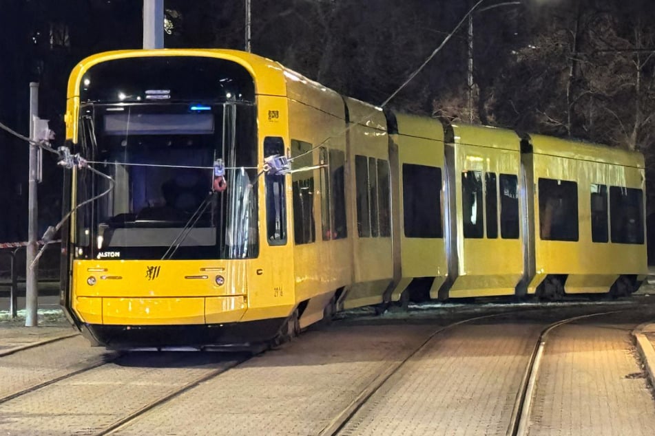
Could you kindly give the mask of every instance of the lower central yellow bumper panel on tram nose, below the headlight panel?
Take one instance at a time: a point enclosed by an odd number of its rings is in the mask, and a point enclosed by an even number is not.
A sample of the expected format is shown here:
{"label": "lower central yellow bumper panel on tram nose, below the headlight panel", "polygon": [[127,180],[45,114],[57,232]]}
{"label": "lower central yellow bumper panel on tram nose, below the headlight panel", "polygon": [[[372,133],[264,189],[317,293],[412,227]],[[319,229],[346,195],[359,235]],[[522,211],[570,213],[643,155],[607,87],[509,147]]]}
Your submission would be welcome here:
{"label": "lower central yellow bumper panel on tram nose, below the headlight panel", "polygon": [[105,325],[205,323],[205,298],[103,298]]}

